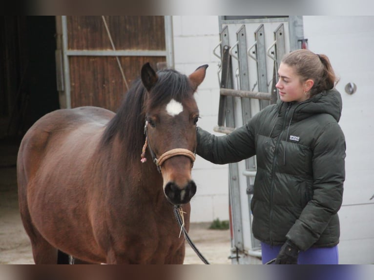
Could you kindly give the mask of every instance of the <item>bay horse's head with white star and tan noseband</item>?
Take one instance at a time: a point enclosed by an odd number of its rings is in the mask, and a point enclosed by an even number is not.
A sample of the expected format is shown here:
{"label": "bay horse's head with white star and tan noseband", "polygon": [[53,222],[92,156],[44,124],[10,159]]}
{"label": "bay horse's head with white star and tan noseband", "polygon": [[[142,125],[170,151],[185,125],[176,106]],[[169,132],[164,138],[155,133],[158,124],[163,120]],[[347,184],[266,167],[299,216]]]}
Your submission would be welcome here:
{"label": "bay horse's head with white star and tan noseband", "polygon": [[195,160],[196,122],[199,110],[193,97],[208,65],[188,77],[174,70],[155,72],[142,67],[145,134],[148,148],[164,180],[164,193],[172,204],[185,204],[196,193],[191,179]]}

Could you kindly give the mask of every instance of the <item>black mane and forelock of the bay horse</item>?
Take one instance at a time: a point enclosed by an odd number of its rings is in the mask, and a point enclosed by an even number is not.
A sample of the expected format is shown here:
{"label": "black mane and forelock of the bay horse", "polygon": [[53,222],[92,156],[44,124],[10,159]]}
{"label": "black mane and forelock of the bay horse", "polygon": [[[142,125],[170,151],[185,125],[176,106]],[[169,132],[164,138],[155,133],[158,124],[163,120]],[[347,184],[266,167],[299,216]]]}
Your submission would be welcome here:
{"label": "black mane and forelock of the bay horse", "polygon": [[[182,101],[193,94],[186,75],[167,69],[157,72],[158,80],[151,93],[147,91],[140,78],[136,79],[125,94],[116,116],[108,122],[101,140],[107,146],[118,135],[123,141],[128,160],[139,160],[145,142],[145,110],[166,105],[171,99]],[[147,96],[147,100],[146,100]]]}

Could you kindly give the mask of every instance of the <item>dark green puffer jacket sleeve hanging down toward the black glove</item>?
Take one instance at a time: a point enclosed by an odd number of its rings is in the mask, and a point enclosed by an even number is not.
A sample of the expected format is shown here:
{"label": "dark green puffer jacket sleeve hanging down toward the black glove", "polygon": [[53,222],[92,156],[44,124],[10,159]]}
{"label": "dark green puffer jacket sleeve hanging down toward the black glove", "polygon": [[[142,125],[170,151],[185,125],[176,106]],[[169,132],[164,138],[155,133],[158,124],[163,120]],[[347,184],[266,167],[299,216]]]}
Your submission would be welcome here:
{"label": "dark green puffer jacket sleeve hanging down toward the black glove", "polygon": [[307,250],[326,229],[342,204],[346,143],[338,123],[328,124],[313,148],[313,196],[286,235]]}

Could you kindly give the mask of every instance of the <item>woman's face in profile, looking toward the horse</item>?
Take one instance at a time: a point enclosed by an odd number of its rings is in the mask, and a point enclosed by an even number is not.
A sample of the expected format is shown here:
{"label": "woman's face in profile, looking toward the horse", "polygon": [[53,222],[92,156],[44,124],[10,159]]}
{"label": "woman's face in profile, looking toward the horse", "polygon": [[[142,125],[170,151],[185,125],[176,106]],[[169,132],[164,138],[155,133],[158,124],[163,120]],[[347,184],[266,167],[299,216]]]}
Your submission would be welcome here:
{"label": "woman's face in profile, looking toward the horse", "polygon": [[287,64],[281,63],[279,65],[278,82],[275,86],[279,91],[280,100],[284,102],[301,102],[309,98],[309,95],[305,94],[307,92],[305,84],[300,81],[294,68]]}

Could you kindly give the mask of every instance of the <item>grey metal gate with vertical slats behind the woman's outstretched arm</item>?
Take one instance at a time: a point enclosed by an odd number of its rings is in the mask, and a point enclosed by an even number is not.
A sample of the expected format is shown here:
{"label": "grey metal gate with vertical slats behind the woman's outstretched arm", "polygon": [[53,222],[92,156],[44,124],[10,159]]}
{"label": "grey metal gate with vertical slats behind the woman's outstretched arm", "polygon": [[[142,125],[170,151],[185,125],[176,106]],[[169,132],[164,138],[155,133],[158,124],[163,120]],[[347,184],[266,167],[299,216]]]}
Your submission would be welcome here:
{"label": "grey metal gate with vertical slats behind the woman's outstretched arm", "polygon": [[[213,50],[221,59],[218,125],[229,133],[278,98],[275,84],[286,52],[302,48],[302,17],[234,17],[219,20],[221,41]],[[218,49],[220,48],[220,53]],[[229,164],[229,213],[233,263],[256,263],[260,242],[251,232],[250,200],[256,175],[252,157]],[[253,258],[254,257],[254,258]]]}

